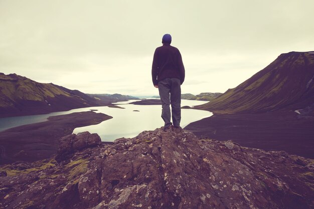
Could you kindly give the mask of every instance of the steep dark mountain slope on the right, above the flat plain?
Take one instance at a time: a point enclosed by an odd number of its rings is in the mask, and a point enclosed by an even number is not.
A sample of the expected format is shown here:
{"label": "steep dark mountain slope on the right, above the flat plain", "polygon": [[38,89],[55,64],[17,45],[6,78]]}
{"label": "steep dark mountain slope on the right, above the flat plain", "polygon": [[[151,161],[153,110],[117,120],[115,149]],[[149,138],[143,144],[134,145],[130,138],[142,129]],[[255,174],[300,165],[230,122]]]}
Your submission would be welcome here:
{"label": "steep dark mountain slope on the right, above the flat plain", "polygon": [[215,113],[298,110],[314,104],[314,52],[281,54],[234,89],[197,108]]}

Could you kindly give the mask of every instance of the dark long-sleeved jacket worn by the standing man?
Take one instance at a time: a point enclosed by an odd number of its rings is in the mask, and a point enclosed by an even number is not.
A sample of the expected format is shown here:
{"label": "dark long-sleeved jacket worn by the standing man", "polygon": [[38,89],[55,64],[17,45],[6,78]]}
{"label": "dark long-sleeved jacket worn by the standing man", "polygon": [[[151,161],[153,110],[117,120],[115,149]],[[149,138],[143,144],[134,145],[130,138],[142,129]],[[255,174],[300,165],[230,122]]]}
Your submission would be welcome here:
{"label": "dark long-sleeved jacket worn by the standing man", "polygon": [[169,44],[158,47],[153,55],[151,76],[154,86],[165,78],[179,78],[183,84],[185,69],[180,51]]}

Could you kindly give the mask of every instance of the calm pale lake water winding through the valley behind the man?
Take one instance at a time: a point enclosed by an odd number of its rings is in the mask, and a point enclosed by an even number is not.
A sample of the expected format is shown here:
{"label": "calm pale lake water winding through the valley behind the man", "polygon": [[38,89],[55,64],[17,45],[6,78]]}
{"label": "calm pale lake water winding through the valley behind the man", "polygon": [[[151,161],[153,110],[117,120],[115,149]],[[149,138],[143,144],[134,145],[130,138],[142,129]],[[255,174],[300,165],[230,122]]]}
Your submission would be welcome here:
{"label": "calm pale lake water winding through the valley behind the man", "polygon": [[[101,112],[112,116],[110,120],[106,120],[97,125],[85,126],[74,129],[73,133],[89,131],[90,133],[98,133],[102,141],[113,141],[121,137],[134,137],[144,130],[154,130],[164,125],[161,118],[161,105],[133,105],[128,102],[118,102],[120,108],[110,107],[87,107],[73,109],[64,112],[54,112],[45,115],[31,115],[21,117],[0,118],[0,131],[37,122],[46,121],[49,116],[69,114],[73,112],[89,111],[96,109],[97,113]],[[195,106],[206,103],[206,101],[182,100],[181,106]],[[133,110],[138,110],[133,111]],[[182,109],[181,126],[184,128],[189,123],[211,116],[212,113],[204,110]]]}

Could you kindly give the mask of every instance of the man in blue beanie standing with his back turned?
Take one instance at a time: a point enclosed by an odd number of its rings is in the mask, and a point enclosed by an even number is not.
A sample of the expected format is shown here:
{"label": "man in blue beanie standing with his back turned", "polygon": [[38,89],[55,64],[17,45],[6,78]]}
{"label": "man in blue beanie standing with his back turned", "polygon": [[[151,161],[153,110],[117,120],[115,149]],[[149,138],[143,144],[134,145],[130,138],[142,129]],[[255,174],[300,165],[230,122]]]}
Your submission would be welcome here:
{"label": "man in blue beanie standing with his back turned", "polygon": [[[180,51],[170,46],[170,34],[163,36],[163,46],[156,48],[152,61],[152,83],[159,89],[162,100],[162,118],[165,121],[164,130],[181,129],[181,85],[185,78],[185,69]],[[172,121],[170,104],[172,109]]]}

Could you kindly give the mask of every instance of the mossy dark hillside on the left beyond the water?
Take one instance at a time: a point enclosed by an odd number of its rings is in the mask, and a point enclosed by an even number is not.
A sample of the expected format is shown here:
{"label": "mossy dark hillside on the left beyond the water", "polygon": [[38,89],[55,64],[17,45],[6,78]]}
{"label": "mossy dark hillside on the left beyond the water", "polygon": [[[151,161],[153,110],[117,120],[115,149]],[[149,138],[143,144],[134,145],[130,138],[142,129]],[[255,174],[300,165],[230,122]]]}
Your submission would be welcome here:
{"label": "mossy dark hillside on the left beyond the water", "polygon": [[77,90],[42,84],[16,74],[0,73],[0,117],[44,114],[100,102]]}

